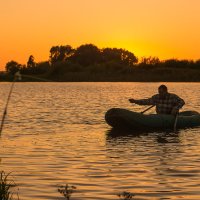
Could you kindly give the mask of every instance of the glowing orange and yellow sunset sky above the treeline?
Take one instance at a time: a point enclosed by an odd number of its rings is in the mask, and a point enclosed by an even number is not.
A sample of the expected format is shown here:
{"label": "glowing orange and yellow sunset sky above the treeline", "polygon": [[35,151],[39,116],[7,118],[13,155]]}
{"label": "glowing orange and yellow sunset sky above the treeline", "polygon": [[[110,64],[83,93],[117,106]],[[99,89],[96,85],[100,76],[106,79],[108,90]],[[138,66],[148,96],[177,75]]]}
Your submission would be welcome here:
{"label": "glowing orange and yellow sunset sky above the treeline", "polygon": [[92,43],[138,58],[200,58],[200,0],[0,0],[0,69]]}

